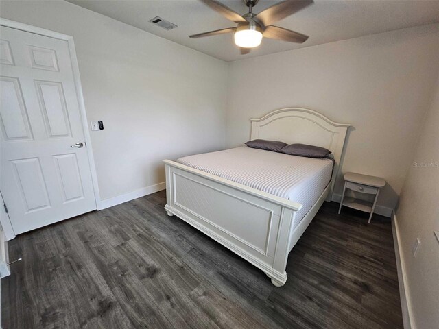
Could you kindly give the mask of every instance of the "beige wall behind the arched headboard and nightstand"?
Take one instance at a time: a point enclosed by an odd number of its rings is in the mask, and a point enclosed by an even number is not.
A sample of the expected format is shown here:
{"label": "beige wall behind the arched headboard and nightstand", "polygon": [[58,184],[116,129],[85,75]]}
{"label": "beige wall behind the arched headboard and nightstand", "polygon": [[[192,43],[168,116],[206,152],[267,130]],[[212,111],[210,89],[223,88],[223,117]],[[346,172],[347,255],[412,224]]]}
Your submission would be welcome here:
{"label": "beige wall behind the arched headboard and nightstand", "polygon": [[[231,62],[227,145],[248,141],[250,118],[288,106],[351,123],[342,171],[385,178],[389,184],[378,204],[390,215],[431,98],[438,58],[436,24]],[[335,193],[341,192],[339,177]]]}

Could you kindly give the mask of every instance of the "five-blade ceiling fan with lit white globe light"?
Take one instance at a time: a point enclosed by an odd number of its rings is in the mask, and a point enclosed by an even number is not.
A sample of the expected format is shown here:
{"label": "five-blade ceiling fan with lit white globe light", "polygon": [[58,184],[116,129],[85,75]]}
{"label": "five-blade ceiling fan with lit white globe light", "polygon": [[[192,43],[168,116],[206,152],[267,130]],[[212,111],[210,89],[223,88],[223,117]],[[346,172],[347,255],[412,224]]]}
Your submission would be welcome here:
{"label": "five-blade ceiling fan with lit white globe light", "polygon": [[252,8],[259,0],[243,0],[248,6],[248,13],[242,16],[219,1],[200,1],[209,5],[210,8],[219,12],[219,14],[222,14],[226,19],[237,23],[237,27],[228,27],[227,29],[217,29],[215,31],[192,34],[189,38],[201,38],[203,36],[216,36],[218,34],[233,33],[235,44],[240,47],[241,54],[243,55],[249,53],[252,48],[259,46],[262,37],[296,43],[303,43],[309,38],[308,36],[305,36],[305,34],[300,34],[271,24],[280,21],[281,19],[285,19],[285,17],[311,5],[313,0],[281,1],[272,5],[270,8],[263,10],[259,14],[252,13]]}

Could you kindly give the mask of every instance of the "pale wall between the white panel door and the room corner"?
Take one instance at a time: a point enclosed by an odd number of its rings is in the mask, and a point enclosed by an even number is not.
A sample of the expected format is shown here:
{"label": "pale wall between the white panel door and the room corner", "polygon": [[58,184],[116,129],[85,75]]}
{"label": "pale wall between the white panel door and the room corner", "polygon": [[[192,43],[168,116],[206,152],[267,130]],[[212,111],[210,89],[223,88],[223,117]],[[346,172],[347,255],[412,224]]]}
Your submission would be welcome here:
{"label": "pale wall between the white panel door and the room corner", "polygon": [[64,1],[1,1],[1,17],[74,37],[99,192],[165,181],[163,158],[224,148],[227,64]]}

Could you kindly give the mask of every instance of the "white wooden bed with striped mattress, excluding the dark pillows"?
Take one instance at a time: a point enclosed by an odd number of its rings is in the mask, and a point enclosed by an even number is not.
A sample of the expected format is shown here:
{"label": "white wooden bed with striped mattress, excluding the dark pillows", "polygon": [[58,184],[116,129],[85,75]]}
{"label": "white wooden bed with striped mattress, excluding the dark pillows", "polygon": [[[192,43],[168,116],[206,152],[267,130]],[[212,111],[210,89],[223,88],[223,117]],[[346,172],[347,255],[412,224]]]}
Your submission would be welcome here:
{"label": "white wooden bed with striped mattress, excluding the dark pillows", "polygon": [[349,126],[305,108],[283,108],[251,119],[250,139],[325,147],[334,161],[250,147],[163,160],[165,210],[281,287],[287,281],[289,252],[324,200],[331,200]]}

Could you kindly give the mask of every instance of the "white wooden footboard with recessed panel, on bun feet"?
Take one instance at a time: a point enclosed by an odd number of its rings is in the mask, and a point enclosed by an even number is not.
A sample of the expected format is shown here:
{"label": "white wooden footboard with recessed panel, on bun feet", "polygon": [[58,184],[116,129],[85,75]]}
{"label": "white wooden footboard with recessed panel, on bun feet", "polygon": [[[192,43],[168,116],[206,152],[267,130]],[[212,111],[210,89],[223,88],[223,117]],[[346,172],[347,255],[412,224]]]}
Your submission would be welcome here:
{"label": "white wooden footboard with recessed panel, on bun feet", "polygon": [[264,271],[287,280],[292,223],[301,204],[164,160],[168,215],[176,215]]}

